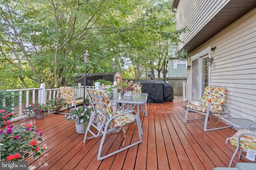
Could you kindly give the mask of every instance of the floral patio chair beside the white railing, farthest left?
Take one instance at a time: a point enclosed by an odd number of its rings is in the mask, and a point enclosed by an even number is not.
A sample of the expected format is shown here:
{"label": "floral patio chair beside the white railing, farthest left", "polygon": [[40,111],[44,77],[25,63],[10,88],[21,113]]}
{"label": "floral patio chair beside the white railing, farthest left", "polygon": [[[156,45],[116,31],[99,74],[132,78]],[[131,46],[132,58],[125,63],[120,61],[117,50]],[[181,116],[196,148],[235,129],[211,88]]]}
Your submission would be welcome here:
{"label": "floral patio chair beside the white railing, farthest left", "polygon": [[74,96],[74,92],[71,87],[63,86],[59,88],[60,90],[60,98],[65,99],[65,102],[69,106],[74,106],[76,108],[76,105],[82,104],[84,102],[83,99],[76,100]]}

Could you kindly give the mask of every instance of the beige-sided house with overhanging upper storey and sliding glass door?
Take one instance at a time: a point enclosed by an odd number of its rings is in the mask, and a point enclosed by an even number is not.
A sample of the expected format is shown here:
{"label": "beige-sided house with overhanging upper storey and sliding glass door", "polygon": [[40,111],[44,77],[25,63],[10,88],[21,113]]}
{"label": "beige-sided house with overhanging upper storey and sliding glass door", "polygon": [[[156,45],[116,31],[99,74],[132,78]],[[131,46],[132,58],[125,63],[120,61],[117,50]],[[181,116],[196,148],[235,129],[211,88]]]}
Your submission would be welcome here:
{"label": "beige-sided house with overhanging upper storey and sliding glass door", "polygon": [[230,116],[256,121],[256,0],[173,0],[172,7],[176,29],[190,30],[176,47],[190,55],[188,98],[225,86]]}

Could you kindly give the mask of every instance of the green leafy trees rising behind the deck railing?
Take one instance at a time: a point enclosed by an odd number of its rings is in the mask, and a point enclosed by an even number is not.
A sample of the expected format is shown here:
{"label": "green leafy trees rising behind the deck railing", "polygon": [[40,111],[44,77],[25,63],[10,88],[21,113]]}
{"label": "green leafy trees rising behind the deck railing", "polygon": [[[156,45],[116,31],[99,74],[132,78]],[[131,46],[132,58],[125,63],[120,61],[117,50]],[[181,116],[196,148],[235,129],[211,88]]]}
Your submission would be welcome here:
{"label": "green leafy trees rising behind the deck railing", "polygon": [[166,0],[0,4],[0,76],[8,82],[0,87],[5,89],[68,85],[75,73],[84,72],[86,50],[87,72],[112,72],[114,58],[120,72],[129,60],[128,72],[138,78],[150,66],[160,70],[168,58],[167,41],[178,42],[185,31],[175,30],[175,14]]}

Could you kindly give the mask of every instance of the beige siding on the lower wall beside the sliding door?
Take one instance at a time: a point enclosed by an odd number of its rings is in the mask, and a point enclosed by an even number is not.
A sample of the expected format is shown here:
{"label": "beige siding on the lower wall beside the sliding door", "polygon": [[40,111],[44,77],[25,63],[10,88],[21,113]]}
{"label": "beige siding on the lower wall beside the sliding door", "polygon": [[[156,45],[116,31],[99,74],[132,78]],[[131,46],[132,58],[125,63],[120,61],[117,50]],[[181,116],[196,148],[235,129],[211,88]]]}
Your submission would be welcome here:
{"label": "beige siding on the lower wall beside the sliding door", "polygon": [[226,86],[232,117],[256,121],[256,8],[218,33],[191,54],[211,51],[212,86]]}

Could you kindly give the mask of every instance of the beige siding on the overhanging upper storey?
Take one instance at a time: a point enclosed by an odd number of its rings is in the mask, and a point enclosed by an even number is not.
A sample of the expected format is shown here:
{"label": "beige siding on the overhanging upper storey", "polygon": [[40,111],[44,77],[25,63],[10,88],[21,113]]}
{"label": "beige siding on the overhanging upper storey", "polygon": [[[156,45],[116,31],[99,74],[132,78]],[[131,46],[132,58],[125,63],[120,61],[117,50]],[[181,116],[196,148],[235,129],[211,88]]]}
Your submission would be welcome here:
{"label": "beige siding on the overhanging upper storey", "polygon": [[229,1],[230,0],[180,0],[176,12],[176,29],[187,26],[190,31],[180,35],[180,39],[184,43],[180,43],[177,49],[182,49],[182,47],[190,41],[208,21],[212,20]]}

